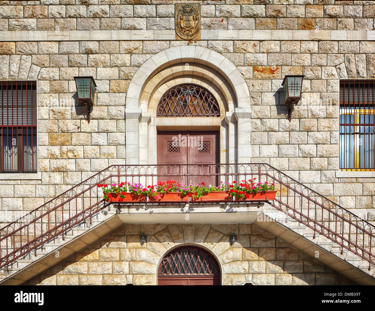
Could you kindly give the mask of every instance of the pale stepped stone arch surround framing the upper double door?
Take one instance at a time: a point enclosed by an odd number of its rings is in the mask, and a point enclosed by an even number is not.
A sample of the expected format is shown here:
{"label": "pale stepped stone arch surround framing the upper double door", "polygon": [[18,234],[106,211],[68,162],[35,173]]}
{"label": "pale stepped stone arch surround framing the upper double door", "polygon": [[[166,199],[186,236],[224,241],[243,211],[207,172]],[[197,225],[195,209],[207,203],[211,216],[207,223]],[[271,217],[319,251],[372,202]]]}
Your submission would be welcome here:
{"label": "pale stepped stone arch surround framing the upper double door", "polygon": [[[220,118],[156,118],[163,92],[182,82],[210,90],[219,102]],[[191,123],[220,128],[220,162],[250,162],[250,118],[249,90],[233,63],[203,47],[169,48],[148,59],[129,84],[125,107],[126,164],[156,164],[157,128],[177,129]]]}

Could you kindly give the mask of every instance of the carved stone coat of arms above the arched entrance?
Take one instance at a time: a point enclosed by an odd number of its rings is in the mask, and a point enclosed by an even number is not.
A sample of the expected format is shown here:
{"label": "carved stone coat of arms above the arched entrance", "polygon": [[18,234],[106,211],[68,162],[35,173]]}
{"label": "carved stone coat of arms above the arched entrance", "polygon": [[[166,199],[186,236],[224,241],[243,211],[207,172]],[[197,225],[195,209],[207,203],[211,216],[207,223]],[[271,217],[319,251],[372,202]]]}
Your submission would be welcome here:
{"label": "carved stone coat of arms above the arched entrance", "polygon": [[176,39],[201,38],[201,5],[197,3],[175,4]]}

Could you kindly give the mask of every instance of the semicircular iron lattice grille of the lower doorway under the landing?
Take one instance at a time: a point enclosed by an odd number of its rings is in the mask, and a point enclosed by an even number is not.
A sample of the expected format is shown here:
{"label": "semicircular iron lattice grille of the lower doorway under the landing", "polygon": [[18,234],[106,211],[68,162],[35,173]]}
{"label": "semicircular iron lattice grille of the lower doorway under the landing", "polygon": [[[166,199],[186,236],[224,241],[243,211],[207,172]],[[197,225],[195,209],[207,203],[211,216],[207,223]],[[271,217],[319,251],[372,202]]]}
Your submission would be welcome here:
{"label": "semicircular iron lattice grille of the lower doorway under the landing", "polygon": [[166,254],[160,264],[158,275],[220,275],[220,268],[213,255],[205,249],[181,246]]}

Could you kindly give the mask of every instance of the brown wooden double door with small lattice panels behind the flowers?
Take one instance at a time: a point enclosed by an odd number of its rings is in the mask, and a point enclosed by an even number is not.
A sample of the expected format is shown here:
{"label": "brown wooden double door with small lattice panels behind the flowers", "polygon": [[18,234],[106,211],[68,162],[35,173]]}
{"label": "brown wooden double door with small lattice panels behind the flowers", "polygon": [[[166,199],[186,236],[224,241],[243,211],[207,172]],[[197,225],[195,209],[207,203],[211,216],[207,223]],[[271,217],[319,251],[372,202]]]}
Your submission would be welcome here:
{"label": "brown wooden double door with small lattice panels behind the flowers", "polygon": [[[218,163],[218,150],[218,131],[158,132],[157,164],[165,165],[159,167],[159,176],[165,176],[160,179],[174,179],[184,184],[216,183],[215,179],[211,180],[211,173],[214,171],[213,164]],[[187,164],[189,167],[185,166]],[[184,176],[178,178],[177,174]]]}

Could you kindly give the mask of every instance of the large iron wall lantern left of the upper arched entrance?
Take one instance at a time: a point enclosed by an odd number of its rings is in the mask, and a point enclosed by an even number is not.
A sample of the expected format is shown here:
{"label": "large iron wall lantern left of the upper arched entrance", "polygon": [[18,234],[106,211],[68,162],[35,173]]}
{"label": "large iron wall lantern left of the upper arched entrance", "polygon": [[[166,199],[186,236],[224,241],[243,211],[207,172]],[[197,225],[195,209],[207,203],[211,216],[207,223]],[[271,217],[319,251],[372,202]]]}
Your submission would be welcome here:
{"label": "large iron wall lantern left of the upper arched entrance", "polygon": [[74,80],[78,102],[86,107],[87,123],[90,123],[90,109],[94,105],[96,83],[93,77],[74,77]]}

